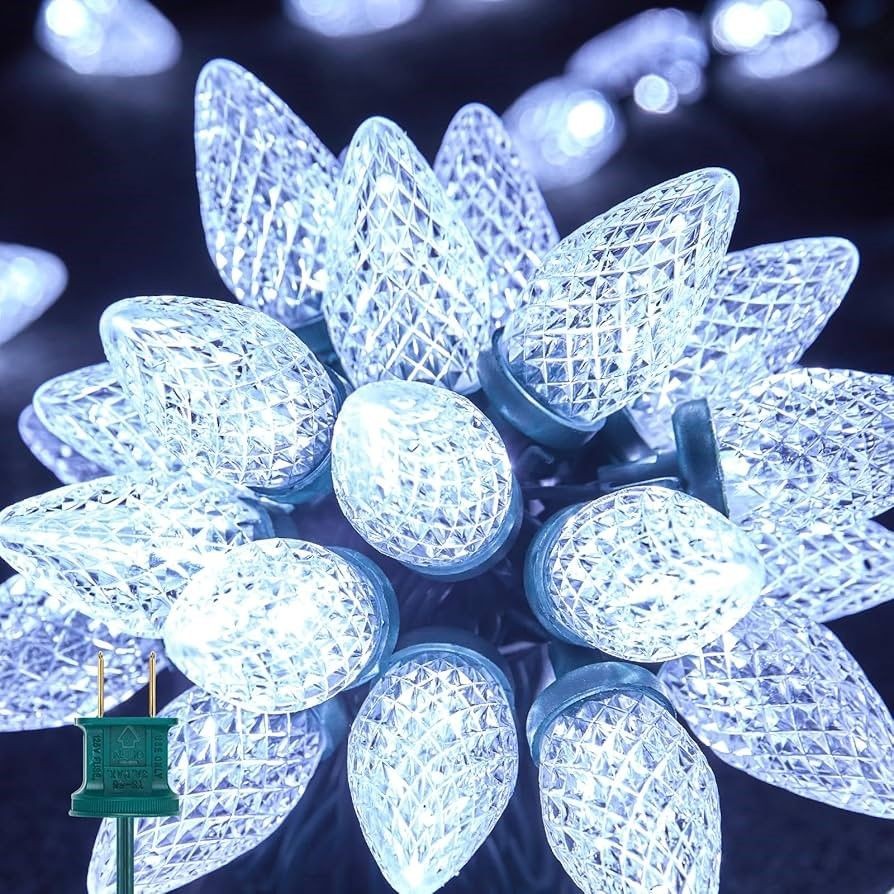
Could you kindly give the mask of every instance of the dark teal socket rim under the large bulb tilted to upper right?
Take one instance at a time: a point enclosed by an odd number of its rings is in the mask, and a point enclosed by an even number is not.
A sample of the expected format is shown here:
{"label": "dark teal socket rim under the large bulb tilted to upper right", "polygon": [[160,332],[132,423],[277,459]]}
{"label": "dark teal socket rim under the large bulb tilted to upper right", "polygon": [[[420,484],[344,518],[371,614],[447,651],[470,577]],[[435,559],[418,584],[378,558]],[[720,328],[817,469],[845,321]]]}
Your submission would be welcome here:
{"label": "dark teal socket rim under the large bulb tilted to upper right", "polygon": [[506,365],[500,350],[498,329],[478,356],[478,379],[490,401],[490,409],[499,413],[523,435],[554,450],[576,450],[602,428],[602,421],[575,425],[554,413],[522,387]]}

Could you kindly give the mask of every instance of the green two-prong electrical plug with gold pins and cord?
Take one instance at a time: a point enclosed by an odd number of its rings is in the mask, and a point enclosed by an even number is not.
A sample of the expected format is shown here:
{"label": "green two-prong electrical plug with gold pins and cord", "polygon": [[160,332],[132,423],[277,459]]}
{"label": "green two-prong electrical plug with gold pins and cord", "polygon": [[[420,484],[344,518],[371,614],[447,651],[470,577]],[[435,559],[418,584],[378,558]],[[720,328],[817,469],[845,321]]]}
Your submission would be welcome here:
{"label": "green two-prong electrical plug with gold pins and cord", "polygon": [[168,784],[168,731],[177,720],[156,717],[155,652],[149,655],[149,716],[105,717],[105,658],[97,657],[96,717],[78,717],[84,732],[84,781],[71,796],[71,816],[118,820],[118,894],[133,894],[133,821],[175,816],[180,799]]}

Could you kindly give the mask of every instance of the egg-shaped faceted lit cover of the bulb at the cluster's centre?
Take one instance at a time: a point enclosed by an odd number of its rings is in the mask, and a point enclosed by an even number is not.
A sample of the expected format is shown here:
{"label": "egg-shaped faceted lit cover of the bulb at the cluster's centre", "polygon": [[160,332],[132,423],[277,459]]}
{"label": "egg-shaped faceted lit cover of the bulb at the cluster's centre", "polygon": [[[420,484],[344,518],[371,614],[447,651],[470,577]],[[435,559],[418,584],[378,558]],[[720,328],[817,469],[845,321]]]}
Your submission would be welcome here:
{"label": "egg-shaped faceted lit cover of the bulb at the cluster's centre", "polygon": [[332,438],[332,483],[367,543],[418,567],[484,557],[511,524],[512,467],[497,430],[434,385],[375,382],[349,395]]}

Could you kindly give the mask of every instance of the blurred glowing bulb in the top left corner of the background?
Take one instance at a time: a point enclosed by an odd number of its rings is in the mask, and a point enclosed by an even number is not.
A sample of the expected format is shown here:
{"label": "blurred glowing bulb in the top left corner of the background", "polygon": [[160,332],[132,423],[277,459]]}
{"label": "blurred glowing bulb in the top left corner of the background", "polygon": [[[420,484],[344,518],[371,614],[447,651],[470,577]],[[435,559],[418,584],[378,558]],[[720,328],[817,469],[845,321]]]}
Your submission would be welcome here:
{"label": "blurred glowing bulb in the top left corner of the background", "polygon": [[79,74],[157,74],[180,57],[180,36],[146,0],[45,0],[37,42]]}

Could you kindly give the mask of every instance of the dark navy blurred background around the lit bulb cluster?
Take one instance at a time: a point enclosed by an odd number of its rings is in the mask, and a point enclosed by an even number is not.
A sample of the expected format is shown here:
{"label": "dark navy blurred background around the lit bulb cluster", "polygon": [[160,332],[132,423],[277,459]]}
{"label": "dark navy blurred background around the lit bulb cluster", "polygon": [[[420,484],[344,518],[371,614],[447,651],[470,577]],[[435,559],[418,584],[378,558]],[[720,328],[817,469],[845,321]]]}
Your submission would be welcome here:
{"label": "dark navy blurred background around the lit bulb cluster", "polygon": [[[336,42],[288,25],[268,0],[167,0],[158,6],[180,29],[183,58],[168,73],[120,81],[77,76],[43,55],[31,40],[37,5],[7,0],[0,9],[0,240],[55,252],[71,280],[43,319],[0,347],[3,505],[56,484],[19,442],[15,419],[41,382],[101,359],[97,321],[107,304],[137,294],[226,296],[204,248],[194,183],[192,90],[205,61],[227,56],[255,72],[336,152],[364,117],[382,114],[431,158],[462,103],[502,111],[558,74],[587,38],[649,4],[503,0],[469,2],[464,11],[430,0],[408,26]],[[667,117],[628,109],[621,152],[590,182],[548,199],[565,234],[684,170],[730,168],[742,188],[733,248],[841,235],[862,253],[848,298],[807,360],[890,373],[894,15],[884,0],[830,9],[843,32],[830,61],[775,82],[745,82],[715,60],[700,103]],[[894,603],[832,627],[894,705]],[[167,676],[170,692],[178,681]],[[0,891],[84,890],[94,827],[67,817],[80,779],[79,737],[71,729],[0,736]],[[894,887],[894,824],[798,798],[713,759],[712,766],[723,806],[724,894]],[[318,805],[337,782],[329,772],[269,846],[189,890],[384,890],[343,792],[337,834],[321,819],[329,814]],[[522,788],[529,784],[528,774]],[[518,853],[501,824],[445,890],[557,889],[561,876],[537,840],[536,803],[530,790],[522,794],[513,809],[522,824],[529,818],[535,844]],[[495,859],[510,867],[510,881],[498,880]]]}

